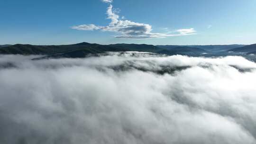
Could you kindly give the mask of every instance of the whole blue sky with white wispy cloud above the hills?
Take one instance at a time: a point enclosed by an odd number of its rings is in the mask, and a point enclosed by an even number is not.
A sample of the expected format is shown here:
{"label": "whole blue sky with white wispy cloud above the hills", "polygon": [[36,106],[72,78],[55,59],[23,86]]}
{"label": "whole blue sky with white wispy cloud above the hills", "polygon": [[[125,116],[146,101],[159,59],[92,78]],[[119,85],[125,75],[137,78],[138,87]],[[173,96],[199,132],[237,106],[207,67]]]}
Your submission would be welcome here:
{"label": "whole blue sky with white wispy cloud above the hills", "polygon": [[1,0],[0,18],[0,44],[256,43],[256,0]]}

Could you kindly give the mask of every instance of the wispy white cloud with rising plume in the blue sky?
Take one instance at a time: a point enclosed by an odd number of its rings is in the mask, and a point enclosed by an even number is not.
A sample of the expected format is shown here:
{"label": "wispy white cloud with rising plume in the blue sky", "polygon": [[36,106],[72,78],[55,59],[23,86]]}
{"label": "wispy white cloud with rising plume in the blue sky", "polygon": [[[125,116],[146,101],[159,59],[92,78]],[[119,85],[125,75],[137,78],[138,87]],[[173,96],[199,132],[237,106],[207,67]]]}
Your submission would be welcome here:
{"label": "wispy white cloud with rising plume in the blue sky", "polygon": [[[112,3],[112,0],[102,0],[106,3]],[[177,29],[174,31],[169,31],[166,33],[153,33],[152,26],[145,23],[137,23],[131,20],[124,20],[124,17],[119,17],[113,5],[107,8],[108,19],[111,20],[108,26],[96,26],[94,24],[83,24],[78,26],[73,26],[71,28],[77,30],[101,30],[110,31],[119,34],[115,36],[116,38],[134,38],[134,39],[144,39],[144,38],[165,38],[169,36],[187,36],[194,35],[196,31],[194,28],[188,29]]]}

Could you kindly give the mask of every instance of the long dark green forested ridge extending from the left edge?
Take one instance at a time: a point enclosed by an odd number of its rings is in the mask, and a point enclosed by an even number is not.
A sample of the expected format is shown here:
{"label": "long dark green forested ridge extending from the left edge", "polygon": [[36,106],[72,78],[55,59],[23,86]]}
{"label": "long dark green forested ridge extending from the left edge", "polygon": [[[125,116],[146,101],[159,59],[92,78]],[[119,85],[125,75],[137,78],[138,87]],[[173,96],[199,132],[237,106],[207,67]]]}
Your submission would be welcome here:
{"label": "long dark green forested ridge extending from the left edge", "polygon": [[0,49],[0,54],[44,54],[50,57],[84,57],[104,52],[138,51],[157,53],[163,49],[154,45],[115,44],[99,45],[79,43],[73,45],[10,45]]}

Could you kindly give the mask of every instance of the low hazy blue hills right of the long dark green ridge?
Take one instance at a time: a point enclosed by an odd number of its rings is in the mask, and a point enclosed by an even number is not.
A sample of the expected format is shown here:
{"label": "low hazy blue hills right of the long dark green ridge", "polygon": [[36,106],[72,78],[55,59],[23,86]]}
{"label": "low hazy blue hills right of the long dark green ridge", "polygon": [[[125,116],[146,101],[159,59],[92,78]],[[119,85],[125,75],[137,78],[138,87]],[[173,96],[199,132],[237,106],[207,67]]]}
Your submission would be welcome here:
{"label": "low hazy blue hills right of the long dark green ridge", "polygon": [[200,48],[200,49],[212,51],[212,52],[221,52],[221,51],[226,51],[232,48],[243,47],[245,45],[156,45],[156,46],[160,48],[165,48],[165,49],[172,49],[178,46],[179,47],[188,46],[188,47],[196,47],[196,48]]}

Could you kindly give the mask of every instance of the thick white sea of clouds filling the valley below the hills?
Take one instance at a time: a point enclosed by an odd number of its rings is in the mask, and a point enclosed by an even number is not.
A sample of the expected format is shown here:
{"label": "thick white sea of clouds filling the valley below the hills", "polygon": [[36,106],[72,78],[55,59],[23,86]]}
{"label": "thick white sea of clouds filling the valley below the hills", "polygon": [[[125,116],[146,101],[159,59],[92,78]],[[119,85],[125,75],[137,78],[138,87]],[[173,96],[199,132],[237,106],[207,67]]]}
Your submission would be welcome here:
{"label": "thick white sea of clouds filling the valley below the hills", "polygon": [[256,144],[256,63],[0,55],[1,144]]}

